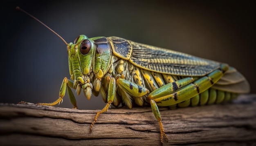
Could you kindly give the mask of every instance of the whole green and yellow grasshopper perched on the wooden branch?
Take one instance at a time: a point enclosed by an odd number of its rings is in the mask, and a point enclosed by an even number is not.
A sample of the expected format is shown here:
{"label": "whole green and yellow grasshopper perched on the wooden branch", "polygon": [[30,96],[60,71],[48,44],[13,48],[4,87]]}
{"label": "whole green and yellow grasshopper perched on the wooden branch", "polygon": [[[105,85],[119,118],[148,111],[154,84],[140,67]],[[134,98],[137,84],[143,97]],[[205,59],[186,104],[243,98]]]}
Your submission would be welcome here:
{"label": "whole green and yellow grasshopper perched on the wooden branch", "polygon": [[106,106],[97,112],[90,126],[91,132],[99,115],[106,112],[111,104],[122,104],[128,108],[150,104],[159,122],[163,144],[164,136],[168,138],[159,106],[175,109],[218,104],[233,100],[241,93],[249,93],[245,77],[225,63],[115,36],[88,38],[80,35],[69,44],[61,39],[67,45],[71,80],[64,78],[55,102],[38,104],[59,104],[67,90],[71,103],[77,108],[71,88],[76,89],[78,95],[83,91],[88,100],[92,94],[98,96],[100,93]]}

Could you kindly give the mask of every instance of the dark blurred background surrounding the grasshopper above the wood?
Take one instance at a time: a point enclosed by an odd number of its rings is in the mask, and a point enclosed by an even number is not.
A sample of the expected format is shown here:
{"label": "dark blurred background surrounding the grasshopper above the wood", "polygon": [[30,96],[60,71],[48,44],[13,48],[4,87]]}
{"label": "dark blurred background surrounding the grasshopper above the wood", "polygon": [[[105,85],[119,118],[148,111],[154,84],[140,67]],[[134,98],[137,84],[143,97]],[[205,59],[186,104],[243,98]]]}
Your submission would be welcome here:
{"label": "dark blurred background surrounding the grasshopper above the wood", "polygon": [[[0,102],[53,102],[70,78],[66,45],[21,11],[47,24],[67,42],[80,35],[119,36],[135,42],[228,63],[256,93],[253,1],[1,1]],[[76,98],[80,109],[101,109],[101,97]],[[61,107],[72,107],[68,96]]]}

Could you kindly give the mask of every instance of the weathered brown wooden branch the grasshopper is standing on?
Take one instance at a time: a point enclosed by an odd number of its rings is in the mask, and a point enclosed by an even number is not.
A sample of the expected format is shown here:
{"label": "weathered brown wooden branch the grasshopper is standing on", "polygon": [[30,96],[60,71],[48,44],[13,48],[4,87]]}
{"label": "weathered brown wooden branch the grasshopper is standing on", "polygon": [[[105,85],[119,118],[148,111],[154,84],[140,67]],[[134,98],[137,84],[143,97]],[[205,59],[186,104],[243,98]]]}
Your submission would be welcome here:
{"label": "weathered brown wooden branch the grasshopper is standing on", "polygon": [[[97,110],[98,111],[98,110]],[[160,145],[151,108],[94,110],[35,104],[0,104],[0,145]],[[229,104],[160,108],[169,142],[164,145],[255,145],[256,95]]]}

